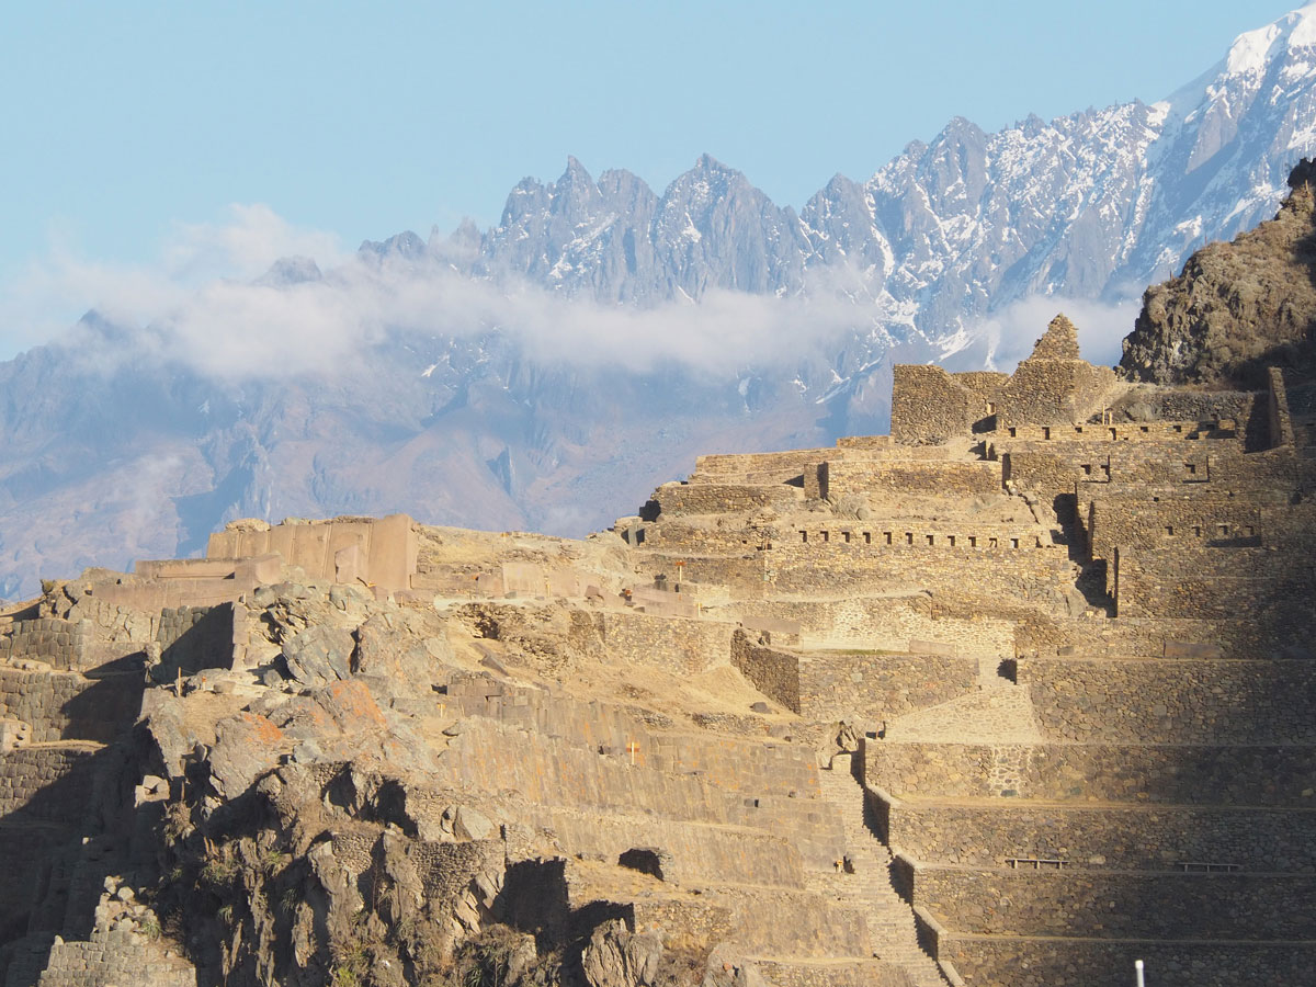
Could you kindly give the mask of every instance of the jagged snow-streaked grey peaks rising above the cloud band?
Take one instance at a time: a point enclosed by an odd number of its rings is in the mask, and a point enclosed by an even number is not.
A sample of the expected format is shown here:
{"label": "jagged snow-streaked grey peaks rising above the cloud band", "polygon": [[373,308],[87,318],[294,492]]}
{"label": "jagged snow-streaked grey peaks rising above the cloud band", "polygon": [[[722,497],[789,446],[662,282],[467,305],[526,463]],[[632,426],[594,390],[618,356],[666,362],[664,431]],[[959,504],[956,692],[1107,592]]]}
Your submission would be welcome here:
{"label": "jagged snow-streaked grey peaks rising above the cloud band", "polygon": [[428,250],[609,304],[841,291],[891,338],[954,351],[1012,301],[1132,299],[1267,217],[1316,147],[1313,59],[1307,7],[1165,100],[995,134],[957,118],[867,182],[837,175],[799,213],[708,155],[662,195],[628,171],[594,180],[571,158],[557,182],[521,182],[494,229],[436,232]]}

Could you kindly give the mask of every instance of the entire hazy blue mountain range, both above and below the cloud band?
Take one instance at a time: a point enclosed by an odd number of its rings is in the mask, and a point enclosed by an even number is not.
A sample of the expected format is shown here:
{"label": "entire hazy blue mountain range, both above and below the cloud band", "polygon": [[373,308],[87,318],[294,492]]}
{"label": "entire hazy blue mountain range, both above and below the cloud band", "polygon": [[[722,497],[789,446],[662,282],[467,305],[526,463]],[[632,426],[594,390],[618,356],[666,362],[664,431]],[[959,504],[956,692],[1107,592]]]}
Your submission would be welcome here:
{"label": "entire hazy blue mountain range, both above and below the cloud band", "polygon": [[[558,182],[513,190],[492,230],[403,233],[353,262],[408,284],[530,286],[595,316],[780,299],[801,305],[801,340],[811,313],[842,329],[808,353],[750,341],[730,368],[699,374],[696,357],[582,363],[496,320],[471,332],[436,312],[334,372],[233,379],[155,353],[150,326],[88,317],[71,341],[0,365],[0,592],[32,592],[42,569],[186,554],[246,515],[409,511],[579,534],[696,453],[884,430],[892,358],[1008,366],[1041,322],[1011,340],[988,330],[992,315],[1038,295],[1133,299],[1204,240],[1270,215],[1316,150],[1312,63],[1308,7],[1242,36],[1169,100],[996,134],[955,120],[799,213],[709,157],[662,195],[571,161]],[[259,284],[346,280],[291,258]]]}

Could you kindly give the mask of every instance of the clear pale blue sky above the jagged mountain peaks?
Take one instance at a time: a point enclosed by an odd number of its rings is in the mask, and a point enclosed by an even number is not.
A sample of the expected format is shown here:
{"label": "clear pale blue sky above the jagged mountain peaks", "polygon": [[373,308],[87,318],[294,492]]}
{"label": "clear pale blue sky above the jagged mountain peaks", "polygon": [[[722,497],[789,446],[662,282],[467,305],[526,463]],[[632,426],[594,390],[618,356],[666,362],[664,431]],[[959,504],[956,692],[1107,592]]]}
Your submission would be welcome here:
{"label": "clear pale blue sky above the jagged mountain peaks", "polygon": [[204,267],[236,207],[308,251],[484,226],[567,154],[661,190],[708,151],[797,208],[957,114],[1159,99],[1294,5],[7,4],[0,292],[53,254]]}

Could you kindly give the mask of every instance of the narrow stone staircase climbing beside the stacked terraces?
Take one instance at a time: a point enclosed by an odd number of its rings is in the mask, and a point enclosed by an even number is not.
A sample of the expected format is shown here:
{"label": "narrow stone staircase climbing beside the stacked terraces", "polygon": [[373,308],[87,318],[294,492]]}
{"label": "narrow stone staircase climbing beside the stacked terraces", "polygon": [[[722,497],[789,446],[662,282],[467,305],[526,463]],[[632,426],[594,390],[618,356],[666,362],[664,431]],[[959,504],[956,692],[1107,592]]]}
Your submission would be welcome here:
{"label": "narrow stone staircase climbing beside the stacked terraces", "polygon": [[899,963],[915,987],[945,987],[941,969],[919,946],[913,911],[891,883],[891,850],[865,822],[863,788],[850,774],[849,755],[837,755],[830,771],[819,771],[819,786],[822,797],[841,816],[854,873],[811,875],[811,890],[851,903],[863,901],[874,954]]}

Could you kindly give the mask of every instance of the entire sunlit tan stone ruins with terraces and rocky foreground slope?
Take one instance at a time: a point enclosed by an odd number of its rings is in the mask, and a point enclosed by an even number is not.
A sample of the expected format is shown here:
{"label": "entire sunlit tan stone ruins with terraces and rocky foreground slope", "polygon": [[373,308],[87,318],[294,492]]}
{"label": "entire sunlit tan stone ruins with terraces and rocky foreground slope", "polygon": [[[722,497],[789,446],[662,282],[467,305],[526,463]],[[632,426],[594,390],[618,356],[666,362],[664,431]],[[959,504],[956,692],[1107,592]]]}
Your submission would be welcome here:
{"label": "entire sunlit tan stone ruins with terraces and rocky foreground slope", "polygon": [[0,982],[1299,984],[1316,382],[1058,317],[584,541],[229,525],[0,616]]}

